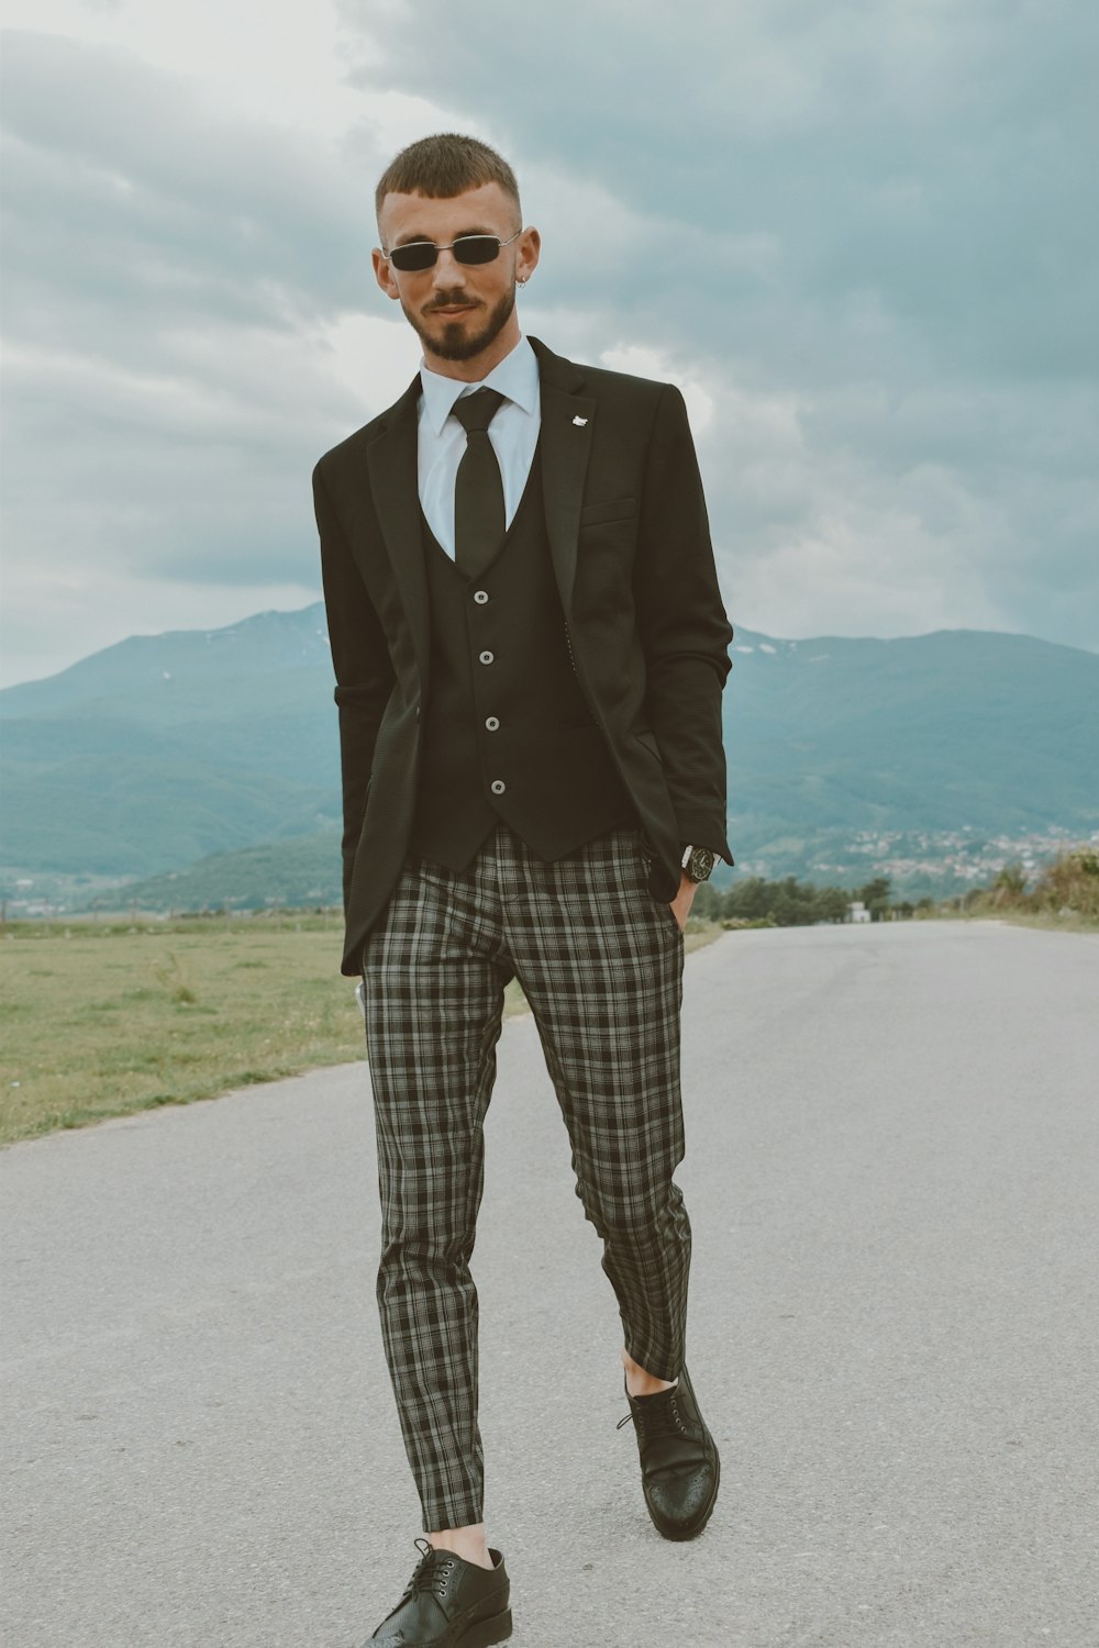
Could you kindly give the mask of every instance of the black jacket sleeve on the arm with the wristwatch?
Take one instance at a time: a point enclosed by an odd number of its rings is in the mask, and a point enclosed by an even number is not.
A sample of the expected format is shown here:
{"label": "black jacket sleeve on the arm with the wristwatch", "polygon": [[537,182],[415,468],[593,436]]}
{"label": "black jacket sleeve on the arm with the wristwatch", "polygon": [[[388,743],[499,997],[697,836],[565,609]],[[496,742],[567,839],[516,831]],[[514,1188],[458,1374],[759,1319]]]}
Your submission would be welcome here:
{"label": "black jacket sleeve on the arm with the wristwatch", "polygon": [[732,864],[725,839],[722,691],[733,638],[713,565],[684,397],[666,384],[638,527],[634,610],[646,661],[646,707],[684,844]]}

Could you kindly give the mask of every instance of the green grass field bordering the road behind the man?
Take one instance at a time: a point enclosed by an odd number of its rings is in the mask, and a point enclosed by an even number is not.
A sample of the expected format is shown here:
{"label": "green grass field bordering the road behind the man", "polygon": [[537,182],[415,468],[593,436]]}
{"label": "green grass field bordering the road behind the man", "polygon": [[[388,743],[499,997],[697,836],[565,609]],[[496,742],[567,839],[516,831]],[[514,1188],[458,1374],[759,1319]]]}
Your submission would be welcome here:
{"label": "green grass field bordering the road behind the man", "polygon": [[339,938],[310,915],[3,928],[0,1144],[362,1058]]}

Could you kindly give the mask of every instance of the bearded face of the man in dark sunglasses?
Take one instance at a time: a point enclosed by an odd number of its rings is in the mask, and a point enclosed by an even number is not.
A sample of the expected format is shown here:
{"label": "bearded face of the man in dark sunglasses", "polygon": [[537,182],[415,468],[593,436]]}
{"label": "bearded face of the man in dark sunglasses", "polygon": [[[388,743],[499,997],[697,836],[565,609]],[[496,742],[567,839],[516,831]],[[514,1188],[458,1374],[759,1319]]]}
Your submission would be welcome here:
{"label": "bearded face of the man in dark sunglasses", "polygon": [[[494,234],[511,241],[519,229],[516,203],[499,183],[484,183],[450,199],[425,194],[387,194],[379,229],[386,250],[410,241],[450,246],[463,234]],[[511,246],[501,246],[491,264],[460,264],[440,252],[432,269],[394,269],[381,247],[374,274],[387,297],[395,298],[435,361],[496,364],[519,341],[516,280],[526,280],[539,260],[539,232],[524,229]]]}

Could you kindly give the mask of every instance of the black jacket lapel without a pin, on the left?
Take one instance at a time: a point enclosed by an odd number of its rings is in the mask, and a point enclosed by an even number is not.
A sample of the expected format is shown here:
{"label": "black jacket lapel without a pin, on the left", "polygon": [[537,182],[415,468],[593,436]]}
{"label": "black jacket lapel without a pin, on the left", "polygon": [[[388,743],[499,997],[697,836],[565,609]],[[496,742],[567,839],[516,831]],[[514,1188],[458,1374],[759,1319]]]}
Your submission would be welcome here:
{"label": "black jacket lapel without a pin, on the left", "polygon": [[430,608],[420,532],[420,488],[417,475],[417,400],[420,377],[389,414],[386,428],[371,442],[366,461],[371,491],[386,550],[412,628],[412,644],[427,686],[430,656]]}

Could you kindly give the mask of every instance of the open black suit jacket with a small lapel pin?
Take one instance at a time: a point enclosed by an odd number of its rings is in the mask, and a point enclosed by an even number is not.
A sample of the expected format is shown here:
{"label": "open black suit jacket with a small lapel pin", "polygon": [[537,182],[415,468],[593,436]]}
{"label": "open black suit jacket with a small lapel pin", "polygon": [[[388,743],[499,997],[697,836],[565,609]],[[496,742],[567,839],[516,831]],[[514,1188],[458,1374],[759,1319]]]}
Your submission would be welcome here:
{"label": "open black suit jacket with a small lapel pin", "polygon": [[[652,895],[671,901],[682,844],[733,862],[720,715],[733,631],[687,409],[671,384],[531,343],[545,524],[577,676],[654,849]],[[339,705],[349,976],[405,859],[432,679],[419,394],[417,374],[313,470]]]}

